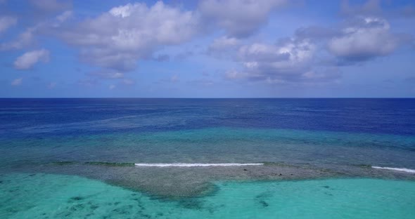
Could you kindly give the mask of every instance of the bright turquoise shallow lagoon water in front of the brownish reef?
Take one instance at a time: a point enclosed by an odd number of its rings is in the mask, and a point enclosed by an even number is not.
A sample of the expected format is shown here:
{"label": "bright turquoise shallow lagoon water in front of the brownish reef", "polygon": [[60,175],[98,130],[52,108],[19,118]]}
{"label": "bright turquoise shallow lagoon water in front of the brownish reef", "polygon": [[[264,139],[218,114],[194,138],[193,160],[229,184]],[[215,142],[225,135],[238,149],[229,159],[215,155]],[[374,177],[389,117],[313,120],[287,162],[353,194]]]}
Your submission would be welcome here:
{"label": "bright turquoise shallow lagoon water in front of the brownish reef", "polygon": [[157,199],[69,175],[1,175],[0,218],[414,218],[415,183],[332,179],[217,182],[199,198]]}

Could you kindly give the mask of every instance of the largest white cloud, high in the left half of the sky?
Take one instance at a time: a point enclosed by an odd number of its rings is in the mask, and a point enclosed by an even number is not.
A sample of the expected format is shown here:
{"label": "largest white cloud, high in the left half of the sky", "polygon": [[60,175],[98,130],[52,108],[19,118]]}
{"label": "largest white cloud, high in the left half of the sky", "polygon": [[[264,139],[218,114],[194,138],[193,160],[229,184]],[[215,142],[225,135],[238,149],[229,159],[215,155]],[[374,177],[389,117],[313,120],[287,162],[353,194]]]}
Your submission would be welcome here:
{"label": "largest white cloud, high in the left half of the sky", "polygon": [[150,57],[162,46],[189,41],[197,33],[195,13],[158,1],[150,7],[136,3],[112,8],[61,36],[81,48],[84,62],[129,71],[140,58]]}

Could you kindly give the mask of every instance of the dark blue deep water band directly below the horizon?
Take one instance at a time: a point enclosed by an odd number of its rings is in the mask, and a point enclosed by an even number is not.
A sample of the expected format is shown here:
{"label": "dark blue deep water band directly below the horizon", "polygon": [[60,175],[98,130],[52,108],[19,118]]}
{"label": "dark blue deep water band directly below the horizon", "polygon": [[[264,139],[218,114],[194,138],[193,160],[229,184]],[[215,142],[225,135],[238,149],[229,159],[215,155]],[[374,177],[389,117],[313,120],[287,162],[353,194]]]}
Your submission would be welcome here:
{"label": "dark blue deep water band directly below the horizon", "polygon": [[[76,126],[131,116],[141,119]],[[213,127],[415,135],[415,99],[0,99],[0,120],[2,137]],[[31,127],[38,130],[25,131]]]}

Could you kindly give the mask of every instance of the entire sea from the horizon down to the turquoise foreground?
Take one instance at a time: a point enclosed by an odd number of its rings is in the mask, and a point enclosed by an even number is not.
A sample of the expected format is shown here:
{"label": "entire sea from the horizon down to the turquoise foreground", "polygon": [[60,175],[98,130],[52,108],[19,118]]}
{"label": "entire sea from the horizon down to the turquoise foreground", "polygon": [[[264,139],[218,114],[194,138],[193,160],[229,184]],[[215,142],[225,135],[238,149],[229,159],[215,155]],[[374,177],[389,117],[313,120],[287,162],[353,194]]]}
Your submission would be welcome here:
{"label": "entire sea from the horizon down to the turquoise foreground", "polygon": [[412,98],[3,98],[0,218],[414,218]]}

